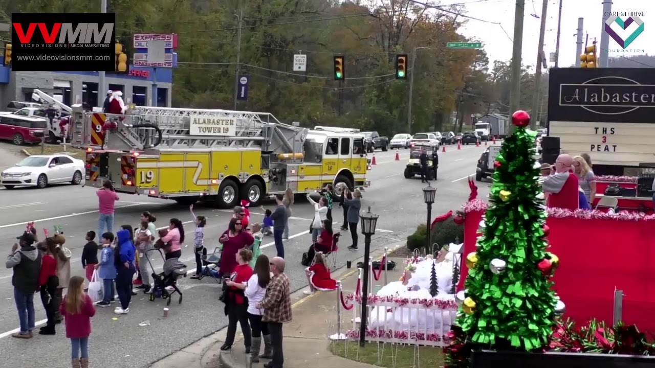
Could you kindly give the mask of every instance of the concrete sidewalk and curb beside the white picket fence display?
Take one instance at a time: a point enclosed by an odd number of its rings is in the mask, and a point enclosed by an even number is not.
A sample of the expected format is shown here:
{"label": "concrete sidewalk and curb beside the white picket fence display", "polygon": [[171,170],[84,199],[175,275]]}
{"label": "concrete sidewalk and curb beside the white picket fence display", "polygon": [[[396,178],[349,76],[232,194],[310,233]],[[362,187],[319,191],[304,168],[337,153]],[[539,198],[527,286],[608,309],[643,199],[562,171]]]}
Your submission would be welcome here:
{"label": "concrete sidewalk and curb beside the white picket fence display", "polygon": [[[405,242],[391,244],[392,249],[405,246]],[[384,250],[371,252],[373,259],[380,259]],[[396,261],[396,269],[387,274],[388,282],[397,281],[402,275],[403,260]],[[341,280],[344,293],[352,293],[357,283],[356,263],[362,259],[353,260],[353,268],[350,270],[342,268],[333,273],[333,278]],[[375,285],[384,284],[384,274],[381,274],[379,281],[373,281]],[[304,295],[301,289],[291,295],[293,303],[293,321],[284,325],[284,367],[285,368],[306,368],[311,364],[312,368],[367,368],[373,367],[364,363],[358,363],[350,359],[339,358],[332,355],[329,350],[329,335],[336,333],[337,329],[337,293],[318,292],[314,295]],[[318,313],[317,313],[318,312]],[[352,328],[352,310],[342,308],[341,333]],[[238,330],[237,330],[238,331]],[[220,346],[225,340],[226,329],[222,329],[210,336],[203,337],[195,343],[179,350],[170,356],[157,361],[151,368],[248,368],[246,367],[246,354],[244,350],[242,335],[240,331],[229,352],[220,352]],[[262,346],[263,350],[263,346]],[[253,367],[260,367],[267,359],[261,359],[260,363],[253,363]]]}

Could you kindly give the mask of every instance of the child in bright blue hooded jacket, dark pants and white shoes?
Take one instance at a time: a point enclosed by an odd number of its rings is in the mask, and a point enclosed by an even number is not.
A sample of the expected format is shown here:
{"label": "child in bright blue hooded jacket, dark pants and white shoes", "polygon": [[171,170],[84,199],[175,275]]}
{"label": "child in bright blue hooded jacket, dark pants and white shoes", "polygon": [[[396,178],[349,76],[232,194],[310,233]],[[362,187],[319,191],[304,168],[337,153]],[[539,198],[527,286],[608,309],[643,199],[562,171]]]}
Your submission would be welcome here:
{"label": "child in bright blue hooded jacket, dark pants and white shoes", "polygon": [[134,267],[134,256],[136,248],[132,243],[132,232],[123,227],[116,233],[118,238],[117,253],[119,262],[116,266],[116,292],[119,295],[121,306],[114,310],[115,314],[127,314],[130,312],[130,301],[132,301],[132,278],[136,273]]}

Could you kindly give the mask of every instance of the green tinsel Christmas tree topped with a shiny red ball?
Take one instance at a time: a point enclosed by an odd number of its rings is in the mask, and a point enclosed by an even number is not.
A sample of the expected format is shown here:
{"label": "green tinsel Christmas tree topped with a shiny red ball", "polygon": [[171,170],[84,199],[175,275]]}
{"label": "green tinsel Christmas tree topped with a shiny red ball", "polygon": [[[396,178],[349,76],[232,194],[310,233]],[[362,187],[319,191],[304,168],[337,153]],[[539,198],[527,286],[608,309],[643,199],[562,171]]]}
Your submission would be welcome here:
{"label": "green tinsel Christmas tree topped with a shiny red ball", "polygon": [[[495,162],[483,236],[466,255],[466,289],[451,331],[447,367],[467,367],[472,349],[531,351],[548,345],[557,297],[550,276],[557,257],[546,252],[544,201],[536,177],[536,132],[525,111],[512,116],[515,130]],[[559,304],[558,304],[559,305]]]}

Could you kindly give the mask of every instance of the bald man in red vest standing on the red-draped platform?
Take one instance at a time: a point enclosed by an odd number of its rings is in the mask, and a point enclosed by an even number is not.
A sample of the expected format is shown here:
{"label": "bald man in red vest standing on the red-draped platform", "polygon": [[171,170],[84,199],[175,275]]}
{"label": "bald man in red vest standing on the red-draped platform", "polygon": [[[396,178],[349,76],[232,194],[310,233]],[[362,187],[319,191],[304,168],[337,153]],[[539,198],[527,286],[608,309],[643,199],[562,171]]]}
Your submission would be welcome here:
{"label": "bald man in red vest standing on the red-draped platform", "polygon": [[544,177],[541,186],[549,193],[546,205],[550,208],[578,210],[580,195],[578,177],[574,174],[571,155],[559,155],[550,168],[550,175]]}

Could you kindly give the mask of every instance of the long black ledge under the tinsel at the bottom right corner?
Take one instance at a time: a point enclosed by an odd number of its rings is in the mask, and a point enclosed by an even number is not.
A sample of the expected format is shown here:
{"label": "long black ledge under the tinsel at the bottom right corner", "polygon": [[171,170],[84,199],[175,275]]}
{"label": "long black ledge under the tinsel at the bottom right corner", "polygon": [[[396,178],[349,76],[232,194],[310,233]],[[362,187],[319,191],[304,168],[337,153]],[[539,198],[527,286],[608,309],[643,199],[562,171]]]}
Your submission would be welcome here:
{"label": "long black ledge under the tinsel at the bottom right corner", "polygon": [[618,354],[474,351],[470,368],[652,368],[655,357]]}

